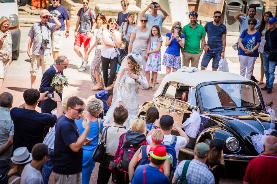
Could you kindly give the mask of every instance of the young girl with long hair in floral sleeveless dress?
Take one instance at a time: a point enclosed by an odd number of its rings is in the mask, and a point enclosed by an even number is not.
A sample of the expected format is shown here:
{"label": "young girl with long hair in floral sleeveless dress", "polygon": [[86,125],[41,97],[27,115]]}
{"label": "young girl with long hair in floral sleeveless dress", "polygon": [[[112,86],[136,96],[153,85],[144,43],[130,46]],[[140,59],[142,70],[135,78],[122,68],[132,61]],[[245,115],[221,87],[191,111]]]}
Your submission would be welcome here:
{"label": "young girl with long hair in floral sleeveless dress", "polygon": [[[155,25],[151,29],[151,37],[148,40],[147,52],[145,55],[145,57],[148,57],[145,68],[145,76],[147,78],[148,83],[150,80],[150,72],[152,72],[153,74],[153,81],[156,81],[158,71],[161,71],[161,47],[162,37],[160,28],[159,26]],[[143,90],[145,89],[146,88],[143,88]],[[156,90],[155,83],[152,83],[152,90]]]}

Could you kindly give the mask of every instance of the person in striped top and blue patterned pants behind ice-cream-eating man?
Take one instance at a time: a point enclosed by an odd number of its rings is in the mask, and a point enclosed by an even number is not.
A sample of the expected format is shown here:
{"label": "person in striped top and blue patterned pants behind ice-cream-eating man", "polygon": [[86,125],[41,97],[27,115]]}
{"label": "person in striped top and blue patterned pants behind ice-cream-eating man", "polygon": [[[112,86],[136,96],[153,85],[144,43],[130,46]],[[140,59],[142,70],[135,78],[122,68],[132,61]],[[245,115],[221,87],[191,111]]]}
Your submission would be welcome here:
{"label": "person in striped top and blue patterned pants behind ice-cream-eating man", "polygon": [[[72,97],[72,95],[63,97],[62,105],[63,105],[63,114],[66,113],[66,104],[68,99]],[[57,114],[57,108],[52,110],[52,114]],[[42,168],[42,177],[43,183],[48,184],[49,177],[53,170],[53,153],[54,153],[54,142],[55,142],[55,134],[56,134],[56,124],[54,127],[50,129],[47,133],[46,137],[43,140],[43,144],[48,146],[49,156],[47,162],[43,165]]]}

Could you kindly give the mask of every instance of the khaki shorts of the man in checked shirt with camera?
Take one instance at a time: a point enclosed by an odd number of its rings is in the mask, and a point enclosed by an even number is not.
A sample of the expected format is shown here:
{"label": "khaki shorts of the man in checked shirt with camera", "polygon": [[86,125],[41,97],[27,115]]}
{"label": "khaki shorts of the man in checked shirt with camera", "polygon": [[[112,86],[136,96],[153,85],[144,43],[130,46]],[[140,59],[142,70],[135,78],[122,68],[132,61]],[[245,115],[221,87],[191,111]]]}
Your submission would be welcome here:
{"label": "khaki shorts of the man in checked shirt with camera", "polygon": [[50,54],[47,55],[32,55],[32,62],[31,62],[31,75],[37,75],[38,74],[38,69],[41,66],[42,74],[50,68],[51,63],[50,63]]}

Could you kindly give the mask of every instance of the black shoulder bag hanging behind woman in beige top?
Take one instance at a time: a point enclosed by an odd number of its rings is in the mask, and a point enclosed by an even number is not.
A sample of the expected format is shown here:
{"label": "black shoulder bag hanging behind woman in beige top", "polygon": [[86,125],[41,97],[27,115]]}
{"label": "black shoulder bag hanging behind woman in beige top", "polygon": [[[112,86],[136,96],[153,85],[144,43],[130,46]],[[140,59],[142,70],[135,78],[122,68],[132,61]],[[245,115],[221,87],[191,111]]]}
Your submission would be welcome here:
{"label": "black shoulder bag hanging behind woman in beige top", "polygon": [[[105,159],[106,154],[106,140],[107,140],[107,131],[108,127],[104,130],[102,137],[100,139],[100,142],[98,143],[98,146],[94,150],[92,154],[92,160],[95,162],[103,163]],[[104,141],[104,135],[105,135],[105,141]]]}

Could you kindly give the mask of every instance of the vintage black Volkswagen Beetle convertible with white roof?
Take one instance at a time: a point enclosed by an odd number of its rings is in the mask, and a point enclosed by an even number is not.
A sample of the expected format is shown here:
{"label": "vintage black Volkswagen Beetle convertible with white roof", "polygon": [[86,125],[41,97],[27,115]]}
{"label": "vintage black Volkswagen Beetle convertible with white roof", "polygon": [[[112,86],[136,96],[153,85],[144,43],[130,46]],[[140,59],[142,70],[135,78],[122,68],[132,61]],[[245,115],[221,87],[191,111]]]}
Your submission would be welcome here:
{"label": "vintage black Volkswagen Beetle convertible with white roof", "polygon": [[[250,136],[270,128],[271,118],[258,85],[229,72],[170,73],[163,78],[153,100],[141,105],[139,116],[151,106],[158,109],[160,116],[173,116],[180,127],[192,110],[199,110],[203,115],[214,114],[201,117],[196,138],[190,137],[189,144],[181,149],[190,155],[196,143],[209,144],[219,138],[224,141],[225,160],[249,161],[258,155]],[[274,118],[273,129],[276,129]]]}

